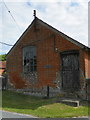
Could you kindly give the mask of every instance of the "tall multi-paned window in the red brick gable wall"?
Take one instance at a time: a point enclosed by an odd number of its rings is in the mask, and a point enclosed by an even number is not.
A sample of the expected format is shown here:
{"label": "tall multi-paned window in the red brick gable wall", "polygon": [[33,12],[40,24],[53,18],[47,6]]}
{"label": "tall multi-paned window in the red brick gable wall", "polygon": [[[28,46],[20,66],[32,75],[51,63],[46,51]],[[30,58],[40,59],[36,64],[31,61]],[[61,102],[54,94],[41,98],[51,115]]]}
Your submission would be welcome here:
{"label": "tall multi-paned window in the red brick gable wall", "polygon": [[23,48],[23,71],[24,73],[36,71],[36,47],[27,46]]}

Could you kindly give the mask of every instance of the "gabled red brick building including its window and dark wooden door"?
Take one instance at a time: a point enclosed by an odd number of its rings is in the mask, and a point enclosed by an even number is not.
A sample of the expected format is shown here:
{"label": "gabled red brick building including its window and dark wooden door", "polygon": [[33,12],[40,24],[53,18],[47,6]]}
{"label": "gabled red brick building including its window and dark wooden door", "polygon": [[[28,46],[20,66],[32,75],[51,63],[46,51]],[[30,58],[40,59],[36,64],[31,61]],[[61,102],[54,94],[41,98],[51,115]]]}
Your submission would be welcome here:
{"label": "gabled red brick building including its window and dark wooden door", "polygon": [[90,48],[35,17],[7,55],[15,88],[78,92],[90,78]]}

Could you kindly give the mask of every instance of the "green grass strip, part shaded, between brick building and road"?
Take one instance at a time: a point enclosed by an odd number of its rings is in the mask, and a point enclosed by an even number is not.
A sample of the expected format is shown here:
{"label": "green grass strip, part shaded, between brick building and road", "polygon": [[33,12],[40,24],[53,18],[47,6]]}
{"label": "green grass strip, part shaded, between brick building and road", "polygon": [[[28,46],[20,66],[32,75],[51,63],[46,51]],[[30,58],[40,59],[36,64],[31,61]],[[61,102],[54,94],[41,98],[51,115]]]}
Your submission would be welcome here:
{"label": "green grass strip, part shaded, between brick building and road", "polygon": [[12,91],[3,91],[2,98],[2,109],[11,112],[30,114],[42,118],[68,118],[88,115],[88,106],[71,107],[55,103],[54,98],[42,99]]}

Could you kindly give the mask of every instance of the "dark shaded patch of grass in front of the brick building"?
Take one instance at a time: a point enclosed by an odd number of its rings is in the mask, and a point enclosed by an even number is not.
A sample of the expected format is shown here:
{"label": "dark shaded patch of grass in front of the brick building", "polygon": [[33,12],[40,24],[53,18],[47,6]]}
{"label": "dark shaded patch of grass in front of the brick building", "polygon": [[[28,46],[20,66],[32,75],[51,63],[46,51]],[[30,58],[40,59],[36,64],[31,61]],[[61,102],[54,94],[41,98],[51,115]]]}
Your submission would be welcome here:
{"label": "dark shaded patch of grass in front of the brick building", "polygon": [[53,99],[44,99],[30,95],[24,95],[12,91],[2,92],[2,107],[12,109],[32,109],[52,104]]}

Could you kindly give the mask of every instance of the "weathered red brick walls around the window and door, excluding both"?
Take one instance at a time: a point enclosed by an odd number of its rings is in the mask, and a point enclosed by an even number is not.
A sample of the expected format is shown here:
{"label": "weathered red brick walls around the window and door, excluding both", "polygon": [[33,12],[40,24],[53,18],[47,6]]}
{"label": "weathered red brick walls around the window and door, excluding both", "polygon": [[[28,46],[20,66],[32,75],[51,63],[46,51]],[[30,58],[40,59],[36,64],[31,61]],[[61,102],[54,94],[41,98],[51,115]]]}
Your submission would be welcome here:
{"label": "weathered red brick walls around the window and door, excluding both", "polygon": [[[90,57],[90,54],[88,55],[84,49],[81,49],[78,45],[75,45],[43,25],[38,24],[38,27],[32,25],[29,29],[30,30],[28,30],[21,37],[21,39],[7,56],[7,71],[9,77],[11,78],[12,73],[14,74],[15,72],[15,74],[19,74],[21,79],[20,82],[22,82],[22,80],[26,81],[26,87],[42,88],[48,85],[53,88],[58,88],[61,84],[60,52],[78,50],[80,64],[80,84],[81,88],[83,88],[85,84],[85,78],[90,77],[88,66],[90,64],[90,58],[88,62],[88,57]],[[23,74],[23,47],[25,46],[36,46],[37,51],[37,74],[30,74],[27,77]],[[46,67],[47,65],[49,68]],[[31,78],[29,79],[30,76]],[[11,82],[13,81],[14,79],[11,79]],[[18,86],[20,87],[20,85],[22,84],[19,83]]]}

